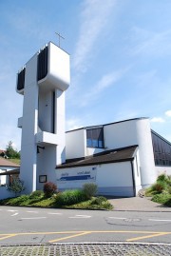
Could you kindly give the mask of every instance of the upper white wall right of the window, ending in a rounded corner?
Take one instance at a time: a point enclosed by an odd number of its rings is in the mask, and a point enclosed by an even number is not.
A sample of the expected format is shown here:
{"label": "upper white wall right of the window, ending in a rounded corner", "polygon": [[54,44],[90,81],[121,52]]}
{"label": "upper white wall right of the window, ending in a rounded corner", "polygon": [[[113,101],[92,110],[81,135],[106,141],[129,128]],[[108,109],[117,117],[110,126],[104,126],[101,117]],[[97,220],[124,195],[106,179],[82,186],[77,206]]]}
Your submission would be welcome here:
{"label": "upper white wall right of the window, ending in a rounded corner", "polygon": [[142,187],[156,180],[149,120],[135,119],[104,126],[104,147],[107,149],[139,145]]}

